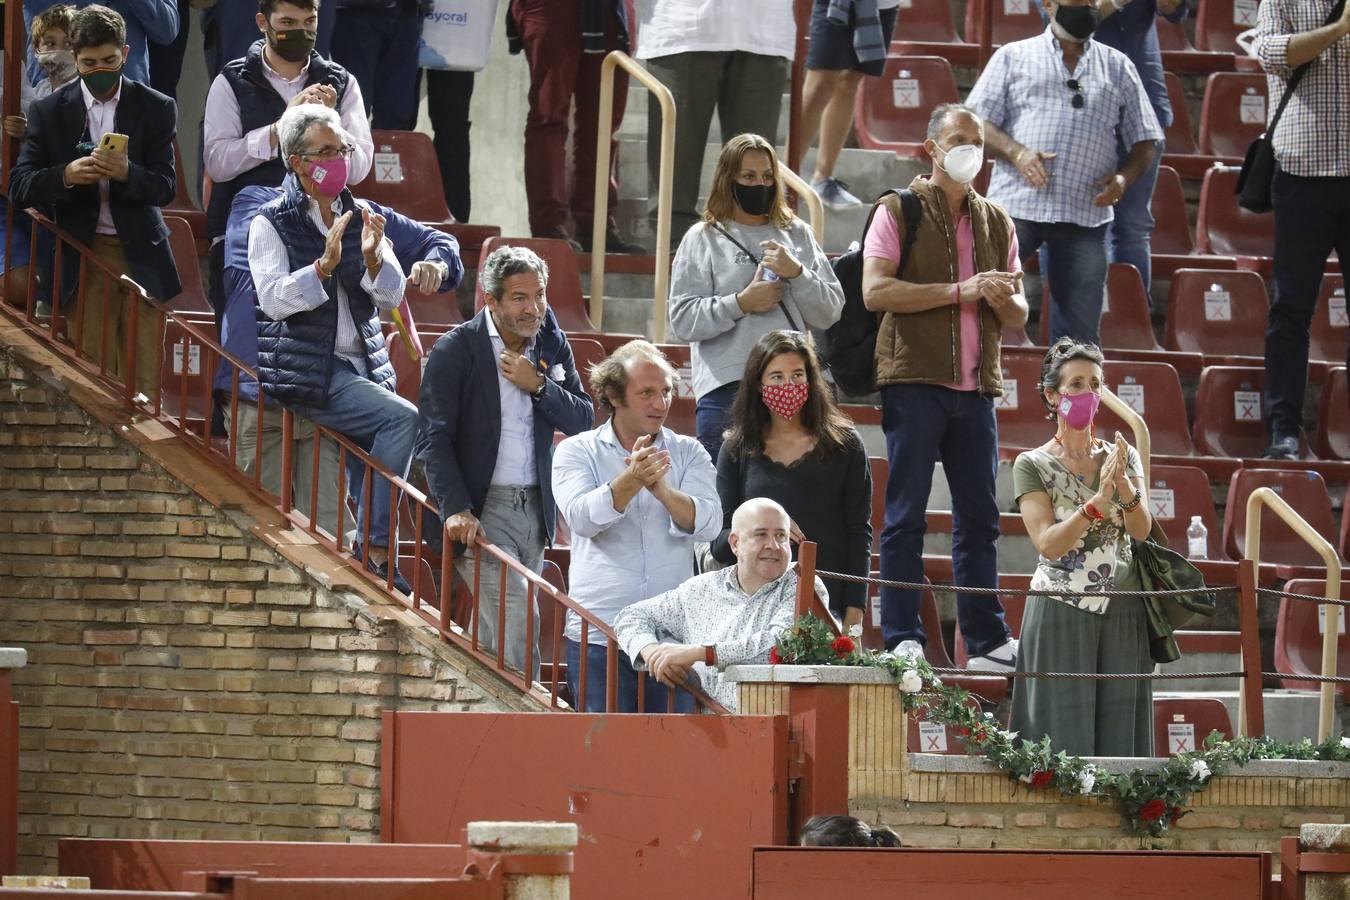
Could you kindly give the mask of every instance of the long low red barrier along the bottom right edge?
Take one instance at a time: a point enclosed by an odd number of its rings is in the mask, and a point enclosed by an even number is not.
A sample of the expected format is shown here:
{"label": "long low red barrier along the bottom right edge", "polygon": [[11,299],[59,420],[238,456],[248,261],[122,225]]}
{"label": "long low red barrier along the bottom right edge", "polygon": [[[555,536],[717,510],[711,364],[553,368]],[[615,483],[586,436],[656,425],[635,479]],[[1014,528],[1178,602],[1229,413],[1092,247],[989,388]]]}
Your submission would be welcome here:
{"label": "long low red barrier along the bottom right edge", "polygon": [[[1269,853],[755,847],[755,900],[1264,900]],[[730,895],[725,895],[730,896]]]}

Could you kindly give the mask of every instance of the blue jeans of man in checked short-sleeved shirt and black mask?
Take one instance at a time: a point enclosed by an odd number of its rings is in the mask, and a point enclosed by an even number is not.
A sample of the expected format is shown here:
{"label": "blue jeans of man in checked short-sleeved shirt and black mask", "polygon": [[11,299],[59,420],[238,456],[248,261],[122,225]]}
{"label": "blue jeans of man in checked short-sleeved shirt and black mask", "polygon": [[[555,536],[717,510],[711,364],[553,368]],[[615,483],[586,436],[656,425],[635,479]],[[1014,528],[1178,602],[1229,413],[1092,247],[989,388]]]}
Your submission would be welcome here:
{"label": "blue jeans of man in checked short-sleeved shirt and black mask", "polygon": [[[1044,244],[1041,275],[1050,279],[1050,343],[1068,335],[1100,344],[1102,298],[1106,294],[1106,225],[1087,228],[1066,221],[1014,219],[1022,262]],[[1041,310],[1045,316],[1046,310]]]}

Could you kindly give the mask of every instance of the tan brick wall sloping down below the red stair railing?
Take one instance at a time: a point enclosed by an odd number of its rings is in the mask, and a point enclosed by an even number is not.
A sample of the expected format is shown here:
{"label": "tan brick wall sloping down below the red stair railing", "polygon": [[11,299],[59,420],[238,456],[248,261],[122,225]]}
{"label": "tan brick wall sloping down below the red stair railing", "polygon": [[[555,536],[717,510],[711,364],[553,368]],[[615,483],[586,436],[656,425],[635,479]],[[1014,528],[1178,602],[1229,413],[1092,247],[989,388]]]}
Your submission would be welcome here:
{"label": "tan brick wall sloping down below the red stair railing", "polygon": [[374,841],[382,710],[518,708],[410,613],[290,561],[284,524],[251,519],[246,493],[190,490],[209,467],[188,456],[170,475],[115,403],[3,337],[23,872],[54,872],[62,835]]}

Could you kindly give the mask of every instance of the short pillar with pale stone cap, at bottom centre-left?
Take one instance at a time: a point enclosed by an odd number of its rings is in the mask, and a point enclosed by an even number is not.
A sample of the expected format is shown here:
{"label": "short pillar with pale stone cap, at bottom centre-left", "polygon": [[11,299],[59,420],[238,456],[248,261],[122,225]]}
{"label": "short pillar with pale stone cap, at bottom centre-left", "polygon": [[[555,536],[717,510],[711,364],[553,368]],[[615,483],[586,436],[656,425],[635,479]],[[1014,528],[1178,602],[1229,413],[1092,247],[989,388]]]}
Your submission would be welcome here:
{"label": "short pillar with pale stone cap, at bottom centre-left", "polygon": [[466,831],[471,858],[485,854],[495,857],[501,865],[505,900],[568,900],[571,896],[575,823],[470,822]]}

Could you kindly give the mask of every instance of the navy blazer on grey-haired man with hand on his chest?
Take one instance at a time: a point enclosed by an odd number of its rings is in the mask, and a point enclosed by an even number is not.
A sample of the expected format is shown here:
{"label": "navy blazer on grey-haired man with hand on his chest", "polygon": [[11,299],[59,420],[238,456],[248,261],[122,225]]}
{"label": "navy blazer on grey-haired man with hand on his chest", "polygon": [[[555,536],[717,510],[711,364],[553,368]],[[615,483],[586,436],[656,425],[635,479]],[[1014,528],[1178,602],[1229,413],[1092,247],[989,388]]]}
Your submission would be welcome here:
{"label": "navy blazer on grey-haired man with hand on his chest", "polygon": [[[487,488],[497,468],[501,441],[501,391],[497,386],[497,355],[487,333],[487,308],[468,322],[441,335],[427,355],[417,409],[421,428],[417,459],[427,470],[431,495],[440,509],[441,522],[470,510],[482,517]],[[563,379],[545,378],[548,387],[535,402],[535,471],[543,497],[544,533],[554,541],[558,511],[554,505],[554,430],[579,434],[591,426],[594,407],[582,390],[567,335],[549,309],[532,359],[554,371],[562,366]],[[455,545],[462,553],[463,545]]]}

